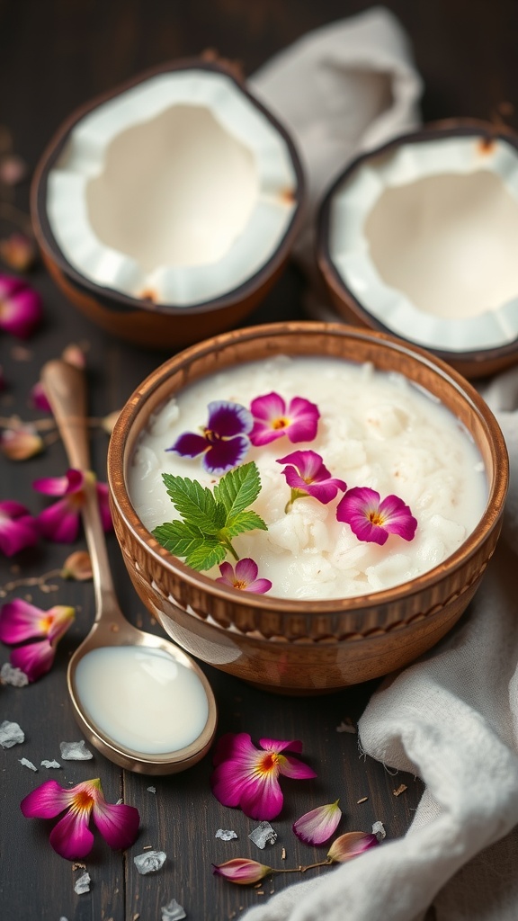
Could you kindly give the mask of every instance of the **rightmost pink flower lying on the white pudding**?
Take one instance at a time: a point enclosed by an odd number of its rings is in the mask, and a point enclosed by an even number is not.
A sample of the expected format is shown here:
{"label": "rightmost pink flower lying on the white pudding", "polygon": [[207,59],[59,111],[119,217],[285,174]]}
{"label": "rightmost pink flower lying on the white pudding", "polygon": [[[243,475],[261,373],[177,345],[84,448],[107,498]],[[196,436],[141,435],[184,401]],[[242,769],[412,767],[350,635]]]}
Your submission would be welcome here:
{"label": "rightmost pink flower lying on the white pudding", "polygon": [[336,519],[346,522],[359,541],[382,545],[389,534],[411,541],[418,527],[403,499],[387,495],[380,502],[380,494],[368,486],[355,486],[348,490],[338,503]]}

